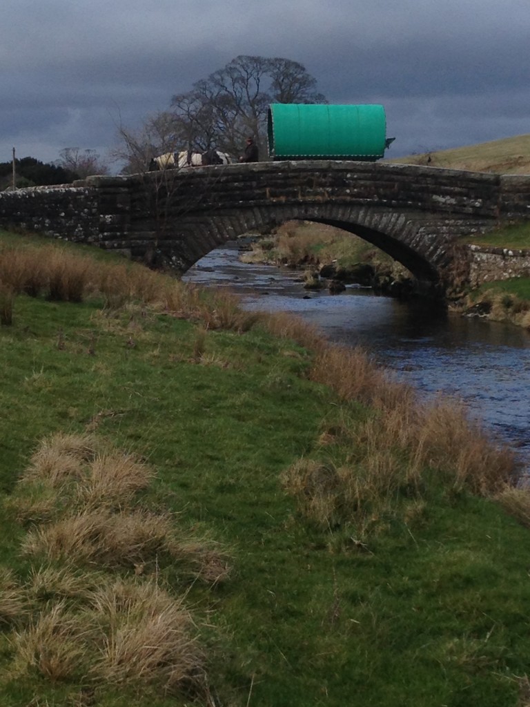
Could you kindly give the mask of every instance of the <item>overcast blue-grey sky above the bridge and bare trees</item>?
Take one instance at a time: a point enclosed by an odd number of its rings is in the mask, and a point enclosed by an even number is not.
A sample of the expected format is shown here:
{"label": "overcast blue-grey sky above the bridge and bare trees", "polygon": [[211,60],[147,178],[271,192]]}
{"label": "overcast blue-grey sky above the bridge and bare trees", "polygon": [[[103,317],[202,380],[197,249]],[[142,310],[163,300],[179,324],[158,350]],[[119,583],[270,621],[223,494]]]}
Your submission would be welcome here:
{"label": "overcast blue-grey sky above the bridge and bare trees", "polygon": [[388,156],[530,133],[529,0],[0,0],[0,162],[104,157],[238,54],[382,103]]}

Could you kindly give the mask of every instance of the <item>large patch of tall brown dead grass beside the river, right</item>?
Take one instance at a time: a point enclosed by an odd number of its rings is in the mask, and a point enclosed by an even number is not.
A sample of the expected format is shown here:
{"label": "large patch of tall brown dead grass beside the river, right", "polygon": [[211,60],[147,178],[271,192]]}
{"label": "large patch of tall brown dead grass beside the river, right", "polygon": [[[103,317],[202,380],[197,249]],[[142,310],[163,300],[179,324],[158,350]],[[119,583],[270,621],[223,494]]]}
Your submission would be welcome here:
{"label": "large patch of tall brown dead grass beside the river, right", "polygon": [[[323,527],[366,527],[370,518],[404,516],[433,484],[446,493],[494,498],[514,479],[514,453],[463,405],[442,398],[419,402],[411,387],[364,351],[319,346],[311,377],[370,410],[349,427],[343,422],[338,431],[324,430],[324,460],[302,458],[282,476],[302,513]],[[338,466],[330,461],[334,444],[346,459]]]}

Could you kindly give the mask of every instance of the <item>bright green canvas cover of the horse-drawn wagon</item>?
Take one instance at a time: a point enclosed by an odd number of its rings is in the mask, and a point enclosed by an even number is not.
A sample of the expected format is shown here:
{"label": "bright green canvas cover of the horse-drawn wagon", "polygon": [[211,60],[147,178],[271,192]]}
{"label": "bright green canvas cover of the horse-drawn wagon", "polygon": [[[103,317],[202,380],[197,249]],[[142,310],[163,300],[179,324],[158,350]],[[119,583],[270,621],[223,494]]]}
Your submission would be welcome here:
{"label": "bright green canvas cover of the horse-drawn wagon", "polygon": [[272,103],[267,115],[274,160],[377,160],[384,155],[382,105]]}

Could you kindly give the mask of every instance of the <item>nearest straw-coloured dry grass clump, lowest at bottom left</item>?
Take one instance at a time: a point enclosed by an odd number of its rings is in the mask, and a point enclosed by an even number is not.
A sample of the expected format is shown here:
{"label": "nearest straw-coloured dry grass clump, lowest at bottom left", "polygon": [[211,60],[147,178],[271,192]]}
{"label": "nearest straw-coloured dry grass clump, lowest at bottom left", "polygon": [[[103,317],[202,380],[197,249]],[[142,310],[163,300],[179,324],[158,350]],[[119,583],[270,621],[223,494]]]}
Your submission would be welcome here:
{"label": "nearest straw-coloured dry grass clump, lowest at bottom left", "polygon": [[[32,588],[47,603],[13,634],[12,674],[37,672],[52,682],[88,675],[118,685],[204,691],[204,653],[192,615],[156,583],[45,568],[33,576]],[[57,601],[61,595],[77,603]]]}

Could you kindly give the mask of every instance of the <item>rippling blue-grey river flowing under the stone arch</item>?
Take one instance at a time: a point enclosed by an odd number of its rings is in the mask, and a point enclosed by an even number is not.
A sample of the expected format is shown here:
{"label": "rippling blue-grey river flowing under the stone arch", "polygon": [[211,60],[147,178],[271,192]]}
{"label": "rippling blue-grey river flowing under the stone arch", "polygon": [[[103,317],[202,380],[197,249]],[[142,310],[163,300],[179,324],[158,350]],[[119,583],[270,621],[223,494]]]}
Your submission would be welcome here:
{"label": "rippling blue-grey river flowing under the stone arch", "polygon": [[229,287],[249,310],[293,312],[332,341],[362,345],[425,395],[463,401],[471,415],[517,449],[530,471],[529,332],[440,311],[427,301],[375,296],[368,288],[308,292],[298,277],[269,265],[242,264],[237,244],[228,243],[183,279]]}

